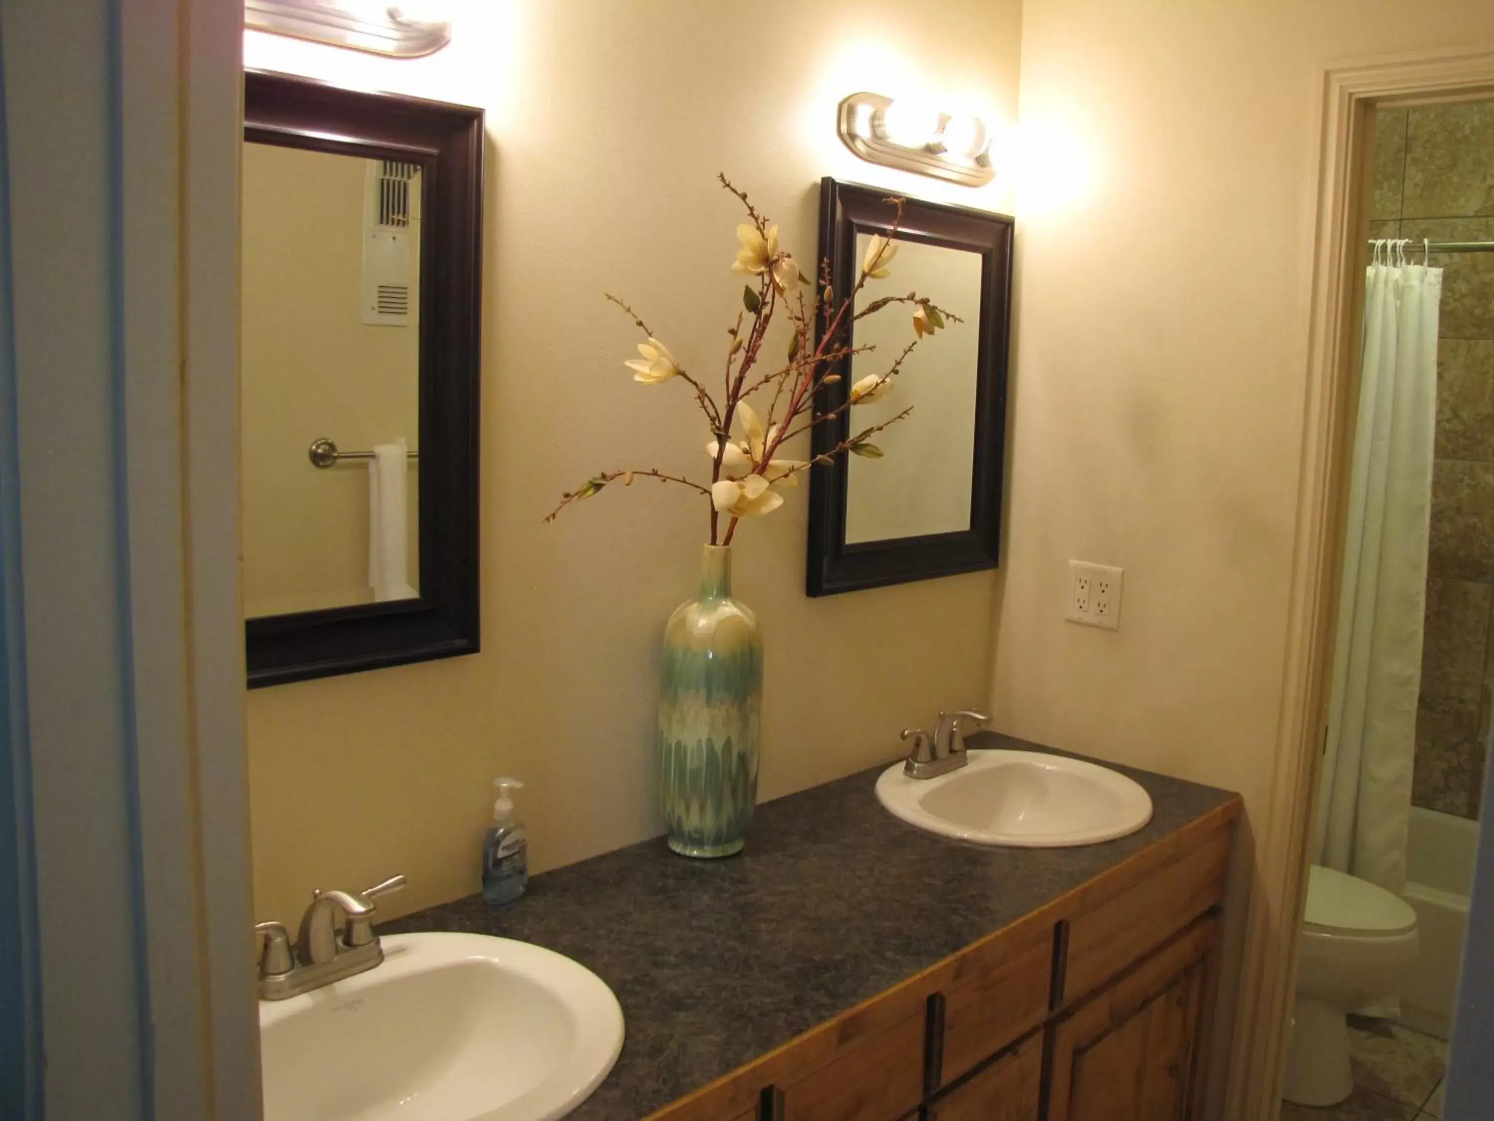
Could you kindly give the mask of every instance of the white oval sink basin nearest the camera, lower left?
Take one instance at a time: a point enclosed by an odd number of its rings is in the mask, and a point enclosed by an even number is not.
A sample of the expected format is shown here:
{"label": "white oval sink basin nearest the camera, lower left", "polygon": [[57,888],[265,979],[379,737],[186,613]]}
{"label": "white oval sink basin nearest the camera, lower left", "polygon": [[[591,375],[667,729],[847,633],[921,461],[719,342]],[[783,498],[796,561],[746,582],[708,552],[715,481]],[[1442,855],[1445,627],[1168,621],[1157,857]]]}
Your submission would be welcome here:
{"label": "white oval sink basin nearest the camera, lower left", "polygon": [[391,934],[384,963],[260,1003],[266,1121],[542,1121],[617,1061],[595,973],[483,934]]}

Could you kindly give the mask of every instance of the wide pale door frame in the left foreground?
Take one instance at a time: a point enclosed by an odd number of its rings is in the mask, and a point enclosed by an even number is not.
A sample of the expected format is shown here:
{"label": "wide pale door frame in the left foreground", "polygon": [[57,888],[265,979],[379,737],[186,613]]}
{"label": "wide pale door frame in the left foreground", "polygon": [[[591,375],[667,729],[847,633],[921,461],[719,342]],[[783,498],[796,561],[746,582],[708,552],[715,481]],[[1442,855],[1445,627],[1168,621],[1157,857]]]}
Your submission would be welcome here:
{"label": "wide pale door frame in the left foreground", "polygon": [[255,1121],[242,10],[15,3],[0,43],[0,819],[31,825],[0,846],[22,885],[0,981],[34,994],[0,1033],[22,1045],[19,1115]]}

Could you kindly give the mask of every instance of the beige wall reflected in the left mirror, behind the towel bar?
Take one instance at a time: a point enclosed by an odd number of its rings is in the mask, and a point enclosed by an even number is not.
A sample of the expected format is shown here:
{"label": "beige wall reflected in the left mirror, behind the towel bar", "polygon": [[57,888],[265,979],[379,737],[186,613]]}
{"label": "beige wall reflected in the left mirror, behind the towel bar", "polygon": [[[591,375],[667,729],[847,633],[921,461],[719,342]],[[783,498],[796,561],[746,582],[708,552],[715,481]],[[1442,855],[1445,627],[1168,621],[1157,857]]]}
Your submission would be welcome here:
{"label": "beige wall reflected in the left mirror, behind the towel bar", "polygon": [[[369,472],[318,469],[311,441],[366,451],[418,432],[420,330],[363,323],[368,160],[244,145],[242,502],[248,616],[372,599]],[[418,193],[417,211],[418,214]],[[418,226],[411,235],[418,244]],[[418,254],[411,291],[420,291]],[[418,299],[418,296],[417,296]],[[409,583],[418,583],[411,466]]]}

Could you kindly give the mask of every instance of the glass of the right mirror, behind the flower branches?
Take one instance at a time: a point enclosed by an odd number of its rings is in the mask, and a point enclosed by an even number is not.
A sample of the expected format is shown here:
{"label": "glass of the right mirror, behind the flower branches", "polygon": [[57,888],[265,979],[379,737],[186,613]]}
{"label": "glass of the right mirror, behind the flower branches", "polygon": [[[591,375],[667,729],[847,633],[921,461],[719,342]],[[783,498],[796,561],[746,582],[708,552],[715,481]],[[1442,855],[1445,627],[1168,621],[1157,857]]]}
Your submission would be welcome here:
{"label": "glass of the right mirror, behind the flower branches", "polygon": [[[865,260],[868,233],[856,235],[853,260]],[[898,238],[898,282],[917,291],[938,291],[940,303],[964,321],[928,336],[908,356],[898,393],[856,407],[856,427],[881,424],[913,407],[917,423],[893,424],[877,433],[886,453],[878,459],[852,456],[846,465],[846,543],[890,541],[904,537],[959,534],[970,529],[970,499],[976,463],[976,389],[980,357],[980,254]],[[880,293],[862,288],[856,309]],[[907,324],[890,315],[868,315],[856,324],[856,345],[874,345],[870,365],[852,359],[852,380],[880,374],[880,356],[907,345]],[[881,362],[880,366],[877,363]],[[875,369],[872,369],[875,366]]]}

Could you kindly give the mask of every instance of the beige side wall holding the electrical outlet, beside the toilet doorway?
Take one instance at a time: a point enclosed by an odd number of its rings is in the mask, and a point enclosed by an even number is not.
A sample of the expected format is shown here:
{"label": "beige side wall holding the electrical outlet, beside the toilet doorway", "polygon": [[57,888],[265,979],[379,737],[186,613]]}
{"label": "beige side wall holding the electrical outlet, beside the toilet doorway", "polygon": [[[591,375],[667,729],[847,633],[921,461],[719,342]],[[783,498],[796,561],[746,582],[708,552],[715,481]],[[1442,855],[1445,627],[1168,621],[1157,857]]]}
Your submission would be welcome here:
{"label": "beige side wall holding the electrical outlet, beside the toilet doorway", "polygon": [[[1247,841],[1286,830],[1262,815],[1324,72],[1491,43],[1487,0],[1026,0],[1004,731],[1240,791]],[[1064,622],[1070,558],[1125,568],[1118,632]]]}

